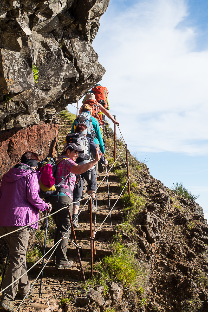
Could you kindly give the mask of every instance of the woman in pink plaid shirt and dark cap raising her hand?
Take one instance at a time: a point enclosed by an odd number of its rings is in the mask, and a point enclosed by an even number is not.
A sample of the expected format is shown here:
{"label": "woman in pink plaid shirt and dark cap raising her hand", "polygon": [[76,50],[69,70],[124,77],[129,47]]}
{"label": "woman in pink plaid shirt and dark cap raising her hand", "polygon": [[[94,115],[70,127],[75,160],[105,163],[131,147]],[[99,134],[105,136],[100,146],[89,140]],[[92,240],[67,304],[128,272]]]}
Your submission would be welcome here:
{"label": "woman in pink plaid shirt and dark cap raising her hand", "polygon": [[[48,202],[52,204],[51,213],[56,212],[59,209],[71,204],[71,202],[73,201],[73,190],[76,181],[75,174],[84,173],[92,168],[99,161],[102,155],[102,153],[99,155],[97,148],[96,157],[94,160],[90,161],[89,163],[78,165],[77,163],[75,163],[75,161],[79,153],[84,153],[84,150],[80,149],[76,144],[70,143],[65,147],[64,154],[59,158],[59,160],[57,160],[58,163],[61,158],[65,158],[57,165],[55,184],[57,185],[58,183],[60,183],[66,176],[68,176],[68,179],[60,185],[60,187],[62,188],[62,192],[60,192],[58,195],[53,195],[49,197]],[[63,191],[63,189],[66,189],[66,191]],[[71,215],[72,207],[73,205],[70,205]],[[56,242],[61,239],[66,230],[70,227],[70,220],[67,208],[62,209],[61,211],[54,214],[52,217],[57,227],[54,238],[54,244],[56,244]],[[70,233],[71,232],[68,231],[65,237],[69,238]],[[61,242],[58,244],[58,247],[56,248],[56,260],[54,258],[54,262],[56,261],[57,269],[70,267],[73,265],[73,261],[69,261],[66,257],[67,242],[68,241],[66,239],[61,240]]]}

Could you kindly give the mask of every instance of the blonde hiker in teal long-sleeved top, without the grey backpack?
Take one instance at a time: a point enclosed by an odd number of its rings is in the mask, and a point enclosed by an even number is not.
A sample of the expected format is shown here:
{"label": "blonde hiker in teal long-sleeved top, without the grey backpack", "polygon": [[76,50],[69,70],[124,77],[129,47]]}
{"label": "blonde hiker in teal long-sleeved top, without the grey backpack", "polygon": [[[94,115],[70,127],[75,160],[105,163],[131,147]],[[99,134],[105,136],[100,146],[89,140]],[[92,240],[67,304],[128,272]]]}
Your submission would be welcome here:
{"label": "blonde hiker in teal long-sleeved top, without the grey backpack", "polygon": [[[81,107],[80,113],[85,112],[85,111],[88,112],[89,115],[91,115],[91,111],[92,111],[91,106],[88,104],[83,105]],[[94,132],[97,135],[97,138],[94,139],[94,143],[99,144],[99,149],[100,149],[101,153],[105,154],[104,143],[103,143],[102,135],[100,132],[99,123],[98,123],[96,118],[94,118],[93,116],[90,116],[90,117],[92,119],[92,125],[93,125]],[[70,133],[75,133],[75,129],[76,129],[76,119],[73,122]]]}

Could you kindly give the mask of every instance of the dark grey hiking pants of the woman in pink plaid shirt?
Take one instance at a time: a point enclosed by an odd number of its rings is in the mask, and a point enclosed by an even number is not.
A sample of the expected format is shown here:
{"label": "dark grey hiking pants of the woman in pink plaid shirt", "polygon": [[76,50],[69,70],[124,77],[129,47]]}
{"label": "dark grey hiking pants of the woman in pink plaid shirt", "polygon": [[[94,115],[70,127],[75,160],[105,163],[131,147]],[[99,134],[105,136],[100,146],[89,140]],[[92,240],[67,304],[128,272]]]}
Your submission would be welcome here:
{"label": "dark grey hiking pants of the woman in pink plaid shirt", "polygon": [[[70,205],[70,203],[72,202],[72,199],[69,196],[59,196],[59,202],[57,202],[57,196],[51,196],[47,200],[47,202],[51,203],[52,205],[51,213],[53,213],[61,209],[62,207]],[[70,205],[71,216],[72,216],[72,207],[73,205]],[[70,220],[69,220],[67,208],[62,209],[61,211],[52,215],[52,218],[54,219],[56,223],[56,227],[57,227],[56,232],[55,232],[55,237],[54,237],[54,244],[56,244],[56,242],[59,241],[61,237],[65,234],[68,227],[70,227]],[[64,237],[69,238],[70,233],[71,231],[69,230]],[[67,243],[68,243],[68,239],[64,238],[58,244],[58,247],[56,248],[56,251],[55,251],[56,252],[56,265],[68,263],[68,259],[66,256]]]}

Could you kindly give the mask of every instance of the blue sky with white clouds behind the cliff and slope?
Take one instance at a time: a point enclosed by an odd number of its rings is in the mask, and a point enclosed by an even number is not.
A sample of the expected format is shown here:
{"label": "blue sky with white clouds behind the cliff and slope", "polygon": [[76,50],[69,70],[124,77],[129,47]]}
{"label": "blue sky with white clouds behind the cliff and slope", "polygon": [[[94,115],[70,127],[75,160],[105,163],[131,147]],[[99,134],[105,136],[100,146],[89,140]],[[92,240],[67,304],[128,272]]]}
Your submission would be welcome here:
{"label": "blue sky with white clouds behind the cliff and slope", "polygon": [[128,149],[208,219],[208,2],[111,0],[93,47]]}

